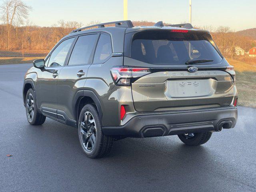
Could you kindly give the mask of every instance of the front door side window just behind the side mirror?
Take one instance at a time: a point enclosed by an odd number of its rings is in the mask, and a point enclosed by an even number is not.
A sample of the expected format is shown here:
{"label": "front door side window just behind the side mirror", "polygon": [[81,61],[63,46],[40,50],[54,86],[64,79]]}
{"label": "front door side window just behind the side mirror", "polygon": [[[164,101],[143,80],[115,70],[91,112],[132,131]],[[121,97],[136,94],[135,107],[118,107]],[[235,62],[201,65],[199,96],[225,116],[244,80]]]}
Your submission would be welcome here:
{"label": "front door side window just behind the side mirror", "polygon": [[54,51],[50,56],[48,67],[56,67],[56,66],[64,65],[66,56],[68,54],[68,50],[70,49],[70,46],[72,45],[73,41],[74,41],[74,38],[64,40],[54,49]]}

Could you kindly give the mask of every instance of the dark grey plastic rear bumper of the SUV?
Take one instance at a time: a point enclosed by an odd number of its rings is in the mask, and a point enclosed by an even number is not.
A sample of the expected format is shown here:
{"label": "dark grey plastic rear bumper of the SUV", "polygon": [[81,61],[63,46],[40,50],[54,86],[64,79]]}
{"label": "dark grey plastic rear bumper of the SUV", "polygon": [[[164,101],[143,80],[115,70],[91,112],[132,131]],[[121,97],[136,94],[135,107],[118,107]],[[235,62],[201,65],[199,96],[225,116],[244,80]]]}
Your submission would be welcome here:
{"label": "dark grey plastic rear bumper of the SUV", "polygon": [[233,128],[236,121],[237,108],[226,106],[200,110],[139,113],[123,126],[102,127],[102,131],[108,136],[154,137],[218,131],[220,128]]}

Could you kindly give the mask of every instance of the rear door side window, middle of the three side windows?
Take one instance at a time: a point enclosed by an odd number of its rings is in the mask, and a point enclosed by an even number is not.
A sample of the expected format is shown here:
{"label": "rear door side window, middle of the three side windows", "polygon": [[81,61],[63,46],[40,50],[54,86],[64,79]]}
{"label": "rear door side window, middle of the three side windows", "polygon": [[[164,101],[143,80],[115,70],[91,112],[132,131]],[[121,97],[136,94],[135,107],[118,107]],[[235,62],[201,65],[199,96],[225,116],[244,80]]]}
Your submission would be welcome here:
{"label": "rear door side window, middle of the three side windows", "polygon": [[72,50],[68,65],[89,64],[90,56],[98,38],[98,34],[80,36]]}

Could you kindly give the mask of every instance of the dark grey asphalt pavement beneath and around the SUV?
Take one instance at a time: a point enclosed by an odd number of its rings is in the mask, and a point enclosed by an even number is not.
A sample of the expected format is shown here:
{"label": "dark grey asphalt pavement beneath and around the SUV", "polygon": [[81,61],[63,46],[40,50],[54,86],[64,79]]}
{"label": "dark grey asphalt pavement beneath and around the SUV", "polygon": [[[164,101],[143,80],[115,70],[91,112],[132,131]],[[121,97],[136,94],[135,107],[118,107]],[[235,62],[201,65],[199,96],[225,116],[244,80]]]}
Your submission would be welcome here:
{"label": "dark grey asphalt pavement beneath and around the SUV", "polygon": [[[203,146],[177,136],[126,138],[109,156],[84,156],[75,128],[31,126],[22,80],[31,65],[0,66],[0,191],[256,191],[256,109]],[[6,154],[12,154],[7,157]]]}

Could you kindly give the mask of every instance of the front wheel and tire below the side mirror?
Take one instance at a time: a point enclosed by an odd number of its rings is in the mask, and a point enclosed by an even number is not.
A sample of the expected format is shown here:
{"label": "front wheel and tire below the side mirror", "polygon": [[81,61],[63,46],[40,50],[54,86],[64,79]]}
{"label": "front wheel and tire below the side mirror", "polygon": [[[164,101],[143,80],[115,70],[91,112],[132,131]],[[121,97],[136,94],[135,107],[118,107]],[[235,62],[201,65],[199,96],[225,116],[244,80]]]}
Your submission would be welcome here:
{"label": "front wheel and tire below the side mirror", "polygon": [[45,122],[46,116],[38,112],[36,94],[32,88],[26,94],[25,107],[26,117],[31,125],[42,125]]}

